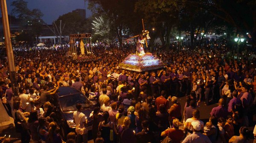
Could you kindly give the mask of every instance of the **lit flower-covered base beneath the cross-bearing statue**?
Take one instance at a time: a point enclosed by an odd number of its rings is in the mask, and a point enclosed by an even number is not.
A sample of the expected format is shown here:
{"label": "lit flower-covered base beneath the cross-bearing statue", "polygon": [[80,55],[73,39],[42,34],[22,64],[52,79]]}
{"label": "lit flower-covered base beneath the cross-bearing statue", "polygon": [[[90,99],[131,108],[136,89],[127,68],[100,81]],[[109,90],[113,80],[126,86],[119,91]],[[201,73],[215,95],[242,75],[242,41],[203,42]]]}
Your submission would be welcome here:
{"label": "lit flower-covered base beneath the cross-bearing statue", "polygon": [[130,54],[119,64],[119,68],[137,72],[156,70],[162,67],[164,67],[163,62],[157,57],[154,57],[152,53]]}

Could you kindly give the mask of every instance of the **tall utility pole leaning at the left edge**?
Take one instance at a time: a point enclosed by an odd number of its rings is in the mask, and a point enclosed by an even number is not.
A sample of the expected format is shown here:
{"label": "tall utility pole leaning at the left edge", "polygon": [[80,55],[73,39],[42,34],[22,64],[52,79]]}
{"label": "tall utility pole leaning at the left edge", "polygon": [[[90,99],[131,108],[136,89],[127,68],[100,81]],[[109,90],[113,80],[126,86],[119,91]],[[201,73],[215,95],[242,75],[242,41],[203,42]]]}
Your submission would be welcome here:
{"label": "tall utility pole leaning at the left edge", "polygon": [[8,13],[6,7],[6,0],[0,0],[1,2],[1,11],[2,11],[2,22],[3,22],[3,33],[5,37],[5,44],[6,44],[6,53],[7,59],[9,64],[10,70],[10,79],[12,82],[12,91],[15,96],[17,96],[17,82],[16,82],[16,71],[15,71],[15,64],[14,64],[14,56],[12,51],[12,42],[11,42],[11,34],[9,28],[9,21],[8,21]]}

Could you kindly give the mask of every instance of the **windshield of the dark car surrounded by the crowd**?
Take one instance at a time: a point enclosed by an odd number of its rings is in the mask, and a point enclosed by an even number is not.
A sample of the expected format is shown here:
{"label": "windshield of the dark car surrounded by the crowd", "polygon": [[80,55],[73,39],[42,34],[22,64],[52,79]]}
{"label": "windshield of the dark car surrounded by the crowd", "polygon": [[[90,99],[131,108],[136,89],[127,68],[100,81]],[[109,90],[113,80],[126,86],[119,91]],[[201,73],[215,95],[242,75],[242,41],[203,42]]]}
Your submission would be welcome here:
{"label": "windshield of the dark car surrounded by the crowd", "polygon": [[83,94],[66,95],[59,98],[63,112],[76,111],[76,104],[80,103],[82,109],[90,107],[90,101]]}

